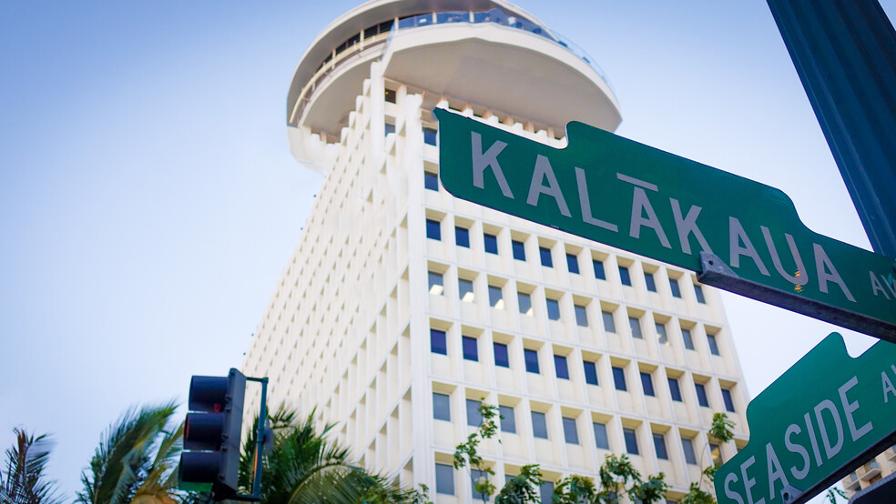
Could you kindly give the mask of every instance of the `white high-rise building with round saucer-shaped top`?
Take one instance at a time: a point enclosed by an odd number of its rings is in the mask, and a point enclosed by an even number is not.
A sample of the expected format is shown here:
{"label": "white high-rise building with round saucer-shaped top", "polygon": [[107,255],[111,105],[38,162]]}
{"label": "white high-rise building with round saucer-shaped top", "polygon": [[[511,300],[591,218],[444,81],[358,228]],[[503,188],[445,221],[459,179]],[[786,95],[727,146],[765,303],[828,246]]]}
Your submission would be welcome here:
{"label": "white high-rise building with round saucer-shaped top", "polygon": [[[433,107],[565,145],[613,130],[616,97],[583,51],[502,0],[375,0],[334,21],[295,71],[290,149],[325,175],[243,371],[270,405],[316,409],[361,464],[472,498],[453,470],[478,401],[500,488],[626,453],[680,498],[747,442],[748,393],[718,297],[677,267],[455,199]],[[250,399],[248,410],[257,407]],[[712,414],[736,439],[711,445]]]}

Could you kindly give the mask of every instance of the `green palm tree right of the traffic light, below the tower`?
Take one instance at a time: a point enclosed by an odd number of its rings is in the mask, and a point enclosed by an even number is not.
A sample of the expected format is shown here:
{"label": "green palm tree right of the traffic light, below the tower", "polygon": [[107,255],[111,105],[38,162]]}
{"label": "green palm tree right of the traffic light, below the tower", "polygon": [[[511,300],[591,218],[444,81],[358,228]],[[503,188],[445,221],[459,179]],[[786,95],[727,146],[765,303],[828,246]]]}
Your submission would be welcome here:
{"label": "green palm tree right of the traffic light, below the tower", "polygon": [[[371,474],[349,461],[349,451],[320,433],[312,412],[303,420],[295,411],[280,409],[270,417],[273,433],[265,449],[261,472],[261,502],[278,504],[405,502],[414,492],[399,488],[382,476]],[[243,444],[239,486],[250,493],[255,474],[258,418]]]}

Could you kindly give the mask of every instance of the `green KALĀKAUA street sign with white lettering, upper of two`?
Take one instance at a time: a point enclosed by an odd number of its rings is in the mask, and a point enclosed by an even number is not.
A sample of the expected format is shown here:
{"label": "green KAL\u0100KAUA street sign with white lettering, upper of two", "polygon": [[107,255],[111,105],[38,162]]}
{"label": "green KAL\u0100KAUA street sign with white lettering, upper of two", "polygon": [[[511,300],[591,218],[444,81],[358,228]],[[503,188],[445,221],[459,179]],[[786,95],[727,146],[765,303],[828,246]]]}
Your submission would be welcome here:
{"label": "green KAL\u0100KAUA street sign with white lettering, upper of two", "polygon": [[896,342],[893,259],[810,231],[774,187],[582,123],[557,149],[434,113],[440,177],[455,197]]}

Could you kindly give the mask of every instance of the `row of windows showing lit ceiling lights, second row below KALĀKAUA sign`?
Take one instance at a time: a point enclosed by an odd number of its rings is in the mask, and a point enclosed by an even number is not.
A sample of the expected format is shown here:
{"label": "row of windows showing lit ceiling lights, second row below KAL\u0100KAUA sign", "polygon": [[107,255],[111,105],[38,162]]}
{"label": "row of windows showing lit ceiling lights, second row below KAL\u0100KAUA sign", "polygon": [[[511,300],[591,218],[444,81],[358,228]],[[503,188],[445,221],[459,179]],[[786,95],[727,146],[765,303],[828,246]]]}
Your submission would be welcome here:
{"label": "row of windows showing lit ceiling lights, second row below KAL\u0100KAUA sign", "polygon": [[[698,287],[698,286],[697,286]],[[438,271],[429,271],[429,292],[435,296],[444,296],[444,274]],[[473,288],[473,280],[459,277],[457,280],[458,297],[465,303],[474,303],[476,300],[475,290]],[[519,312],[526,316],[534,316],[535,310],[532,306],[532,294],[528,292],[518,291],[516,293],[517,306]],[[490,283],[488,285],[488,304],[495,309],[504,309],[504,287]],[[560,299],[545,296],[545,307],[547,318],[559,321],[561,319]],[[573,313],[575,314],[575,324],[582,328],[590,326],[588,320],[588,310],[584,304],[574,303]],[[601,319],[604,324],[604,330],[608,333],[616,334],[616,315],[613,311],[606,309],[601,310]],[[641,327],[641,318],[629,314],[628,326],[632,334],[632,338],[643,339],[644,330]],[[669,345],[669,337],[667,325],[664,322],[654,322],[654,330],[657,333],[658,341],[663,345]],[[684,347],[688,350],[695,350],[694,338],[691,329],[681,328],[681,339]],[[714,334],[707,334],[707,343],[709,352],[712,355],[720,356],[721,352],[718,348],[718,338]]]}

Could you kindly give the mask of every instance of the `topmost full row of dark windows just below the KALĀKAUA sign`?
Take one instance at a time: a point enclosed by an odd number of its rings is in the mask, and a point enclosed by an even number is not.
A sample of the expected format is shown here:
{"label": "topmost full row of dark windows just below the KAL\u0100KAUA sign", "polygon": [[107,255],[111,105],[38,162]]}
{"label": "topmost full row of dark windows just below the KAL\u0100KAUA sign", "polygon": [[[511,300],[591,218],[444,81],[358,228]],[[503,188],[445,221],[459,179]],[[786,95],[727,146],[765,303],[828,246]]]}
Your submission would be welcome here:
{"label": "topmost full row of dark windows just below the KAL\u0100KAUA sign", "polygon": [[[432,175],[433,177],[436,177]],[[438,184],[437,180],[435,184]],[[427,187],[429,188],[429,187]],[[442,223],[438,220],[428,218],[426,219],[426,237],[429,239],[441,241],[442,240]],[[498,238],[494,234],[483,233],[483,243],[485,252],[488,254],[498,254]],[[454,245],[457,247],[470,247],[470,229],[461,226],[454,227]],[[511,240],[511,248],[513,252],[514,259],[519,261],[525,261],[525,244],[519,240]],[[550,247],[538,247],[538,254],[541,260],[541,264],[544,267],[554,267],[554,258],[553,251]],[[566,253],[566,270],[569,273],[574,275],[581,274],[581,269],[579,268],[579,257],[576,254]],[[606,271],[604,269],[604,262],[600,259],[593,258],[592,259],[592,267],[594,269],[595,278],[598,280],[606,280]],[[628,267],[619,265],[619,279],[624,286],[632,286],[632,277],[631,272]],[[672,294],[672,297],[681,297],[681,286],[679,285],[678,278],[669,277],[669,291]],[[645,271],[644,272],[644,282],[647,290],[650,292],[657,292],[657,280],[654,276],[654,273]],[[697,303],[706,304],[707,300],[703,293],[703,286],[694,285],[694,296],[697,298]]]}

